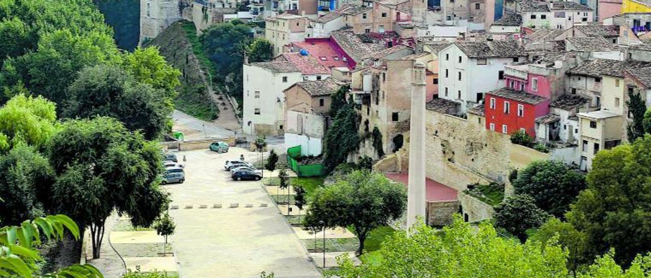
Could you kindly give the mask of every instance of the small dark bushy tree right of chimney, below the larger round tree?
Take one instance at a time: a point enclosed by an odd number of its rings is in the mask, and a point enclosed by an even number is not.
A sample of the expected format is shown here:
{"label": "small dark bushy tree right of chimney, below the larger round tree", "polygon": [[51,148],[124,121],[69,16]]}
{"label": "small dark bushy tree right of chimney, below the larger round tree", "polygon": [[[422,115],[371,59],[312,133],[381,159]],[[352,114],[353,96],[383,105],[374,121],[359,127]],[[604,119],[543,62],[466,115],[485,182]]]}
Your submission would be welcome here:
{"label": "small dark bushy tree right of chimney, below the larger round tree", "polygon": [[508,196],[495,206],[495,225],[525,242],[527,229],[537,228],[545,223],[549,215],[536,207],[535,200],[528,195]]}

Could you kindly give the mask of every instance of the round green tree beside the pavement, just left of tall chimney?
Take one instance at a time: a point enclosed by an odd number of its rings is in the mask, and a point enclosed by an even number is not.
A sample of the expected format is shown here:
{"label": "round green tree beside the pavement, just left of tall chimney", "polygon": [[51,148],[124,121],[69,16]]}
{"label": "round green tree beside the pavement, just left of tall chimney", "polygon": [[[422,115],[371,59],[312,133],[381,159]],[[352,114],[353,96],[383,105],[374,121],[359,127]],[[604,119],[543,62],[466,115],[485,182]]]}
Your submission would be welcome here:
{"label": "round green tree beside the pavement, just left of tall chimney", "polygon": [[353,226],[359,239],[357,255],[364,250],[364,241],[370,230],[388,225],[402,216],[407,205],[407,194],[402,184],[395,183],[381,173],[357,170],[331,186],[314,192],[307,214],[307,227]]}

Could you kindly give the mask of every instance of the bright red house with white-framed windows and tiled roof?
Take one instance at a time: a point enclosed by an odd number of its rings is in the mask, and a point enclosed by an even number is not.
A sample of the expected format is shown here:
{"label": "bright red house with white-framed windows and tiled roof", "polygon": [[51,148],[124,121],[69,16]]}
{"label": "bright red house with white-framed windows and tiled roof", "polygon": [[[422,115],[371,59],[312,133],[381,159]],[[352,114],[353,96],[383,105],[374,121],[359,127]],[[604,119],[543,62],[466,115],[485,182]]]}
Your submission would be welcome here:
{"label": "bright red house with white-framed windows and tiled roof", "polygon": [[512,134],[525,131],[536,138],[536,118],[549,114],[549,99],[512,88],[486,93],[486,129]]}

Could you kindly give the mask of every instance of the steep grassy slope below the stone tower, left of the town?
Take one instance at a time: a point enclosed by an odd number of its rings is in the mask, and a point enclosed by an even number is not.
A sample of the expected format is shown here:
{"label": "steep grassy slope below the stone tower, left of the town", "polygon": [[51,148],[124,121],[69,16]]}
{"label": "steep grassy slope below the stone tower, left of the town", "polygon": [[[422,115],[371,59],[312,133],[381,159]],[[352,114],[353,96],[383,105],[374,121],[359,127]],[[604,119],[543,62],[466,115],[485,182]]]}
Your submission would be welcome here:
{"label": "steep grassy slope below the stone tower, left of the town", "polygon": [[182,86],[174,100],[176,108],[202,120],[214,120],[219,114],[219,109],[212,107],[206,85],[201,79],[201,70],[204,68],[202,60],[207,58],[205,55],[204,58],[196,57],[195,45],[199,40],[196,32],[188,31],[189,27],[194,30],[193,23],[177,21],[148,42],[147,46],[158,46],[165,60],[183,73]]}

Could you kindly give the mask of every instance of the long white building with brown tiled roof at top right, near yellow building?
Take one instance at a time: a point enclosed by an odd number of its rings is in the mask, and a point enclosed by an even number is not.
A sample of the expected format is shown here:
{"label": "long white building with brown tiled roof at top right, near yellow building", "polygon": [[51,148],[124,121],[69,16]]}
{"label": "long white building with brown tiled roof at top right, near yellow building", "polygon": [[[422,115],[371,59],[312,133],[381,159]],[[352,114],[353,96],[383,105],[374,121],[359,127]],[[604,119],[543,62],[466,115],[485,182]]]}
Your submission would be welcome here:
{"label": "long white building with brown tiled roof at top right, near yellow building", "polygon": [[575,2],[537,3],[535,1],[523,1],[522,27],[566,30],[574,25],[594,21],[593,14],[591,8]]}

